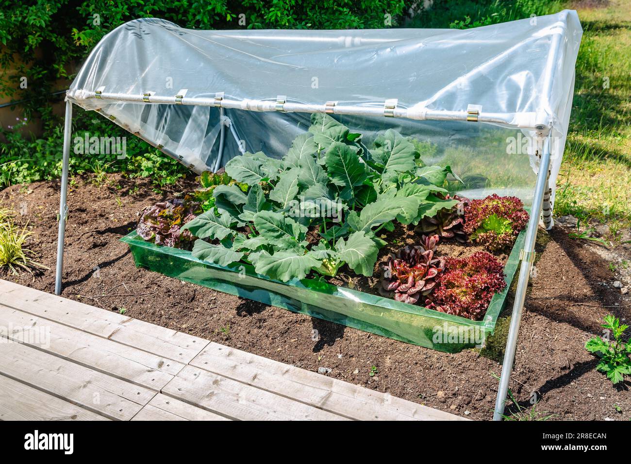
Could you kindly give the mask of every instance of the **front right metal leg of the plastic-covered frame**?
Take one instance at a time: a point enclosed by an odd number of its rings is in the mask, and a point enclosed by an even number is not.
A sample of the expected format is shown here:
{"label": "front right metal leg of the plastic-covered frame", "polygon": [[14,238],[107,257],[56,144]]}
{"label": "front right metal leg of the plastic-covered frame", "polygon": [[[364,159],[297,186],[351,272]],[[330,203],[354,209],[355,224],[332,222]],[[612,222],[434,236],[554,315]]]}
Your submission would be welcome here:
{"label": "front right metal leg of the plastic-covered frame", "polygon": [[[497,400],[495,401],[495,412],[493,420],[502,420],[506,397],[509,390],[510,374],[512,373],[513,362],[515,360],[515,350],[517,348],[517,335],[519,335],[519,323],[521,323],[521,313],[524,309],[524,300],[526,299],[526,289],[528,288],[528,278],[533,266],[534,260],[534,242],[537,238],[537,228],[543,206],[543,198],[548,191],[548,169],[550,169],[550,140],[546,138],[543,144],[543,154],[539,164],[539,173],[537,174],[537,182],[534,187],[533,206],[530,211],[530,220],[528,222],[528,230],[526,230],[526,241],[524,241],[524,249],[521,251],[521,268],[519,270],[519,280],[517,281],[517,290],[515,292],[515,302],[513,312],[510,318],[509,337],[506,342],[506,351],[504,354],[504,362],[502,364],[502,374],[500,376],[500,386],[497,391]],[[549,205],[548,198],[548,205]]]}

